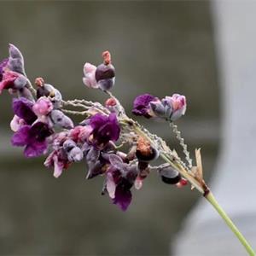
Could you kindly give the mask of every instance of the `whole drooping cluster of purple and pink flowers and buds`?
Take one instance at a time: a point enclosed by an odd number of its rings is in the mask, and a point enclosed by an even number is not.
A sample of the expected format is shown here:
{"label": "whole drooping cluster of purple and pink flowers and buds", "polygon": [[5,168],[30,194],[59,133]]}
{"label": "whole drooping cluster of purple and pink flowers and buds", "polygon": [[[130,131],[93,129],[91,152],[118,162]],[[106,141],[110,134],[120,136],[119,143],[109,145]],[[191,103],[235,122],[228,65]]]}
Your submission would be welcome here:
{"label": "whole drooping cluster of purple and pink flowers and buds", "polygon": [[[35,80],[34,89],[26,77],[23,56],[13,44],[9,46],[9,58],[0,63],[0,92],[6,89],[13,96],[15,115],[10,127],[14,131],[14,146],[23,147],[29,158],[48,154],[44,166],[54,169],[54,177],[60,177],[74,162],[85,160],[87,179],[103,176],[102,195],[108,194],[113,204],[125,211],[131,203],[132,188],[141,189],[149,172],[159,172],[164,183],[177,187],[185,185],[186,179],[172,162],[152,166],[166,146],[161,141],[152,143],[155,137],[128,118],[109,92],[115,81],[115,69],[108,51],[102,57],[103,63],[97,67],[84,64],[83,82],[110,96],[105,106],[86,100],[64,101],[61,92],[42,78]],[[67,109],[69,106],[83,110]],[[173,122],[185,110],[185,96],[174,94],[160,100],[144,94],[135,99],[132,113]],[[83,119],[76,124],[67,114]],[[127,152],[121,150],[125,144]],[[184,166],[171,149],[167,153]]]}

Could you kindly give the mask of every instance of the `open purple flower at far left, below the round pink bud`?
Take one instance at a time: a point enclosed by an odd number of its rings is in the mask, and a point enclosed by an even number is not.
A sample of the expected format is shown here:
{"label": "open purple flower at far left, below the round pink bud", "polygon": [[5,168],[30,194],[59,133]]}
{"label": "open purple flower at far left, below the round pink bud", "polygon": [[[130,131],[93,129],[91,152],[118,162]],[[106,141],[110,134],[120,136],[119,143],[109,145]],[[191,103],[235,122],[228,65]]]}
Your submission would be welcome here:
{"label": "open purple flower at far left, below the round pink bud", "polygon": [[46,138],[53,133],[47,124],[38,122],[34,125],[23,125],[15,132],[11,142],[14,146],[24,147],[26,157],[36,157],[44,154],[47,149]]}

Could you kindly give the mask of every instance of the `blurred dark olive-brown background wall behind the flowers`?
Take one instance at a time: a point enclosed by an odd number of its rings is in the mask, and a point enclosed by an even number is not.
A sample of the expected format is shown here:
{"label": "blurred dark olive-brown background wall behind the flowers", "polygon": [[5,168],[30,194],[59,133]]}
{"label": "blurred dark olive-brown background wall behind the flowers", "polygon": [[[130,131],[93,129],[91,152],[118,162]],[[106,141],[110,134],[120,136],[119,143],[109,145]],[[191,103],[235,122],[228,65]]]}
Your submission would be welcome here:
{"label": "blurred dark olive-brown background wall behind the flowers", "polygon": [[[131,113],[133,99],[148,92],[187,96],[177,125],[189,144],[202,148],[206,180],[218,154],[219,96],[212,15],[207,1],[0,2],[0,59],[8,44],[19,47],[31,80],[43,77],[66,99],[105,101],[82,83],[85,61],[113,55],[113,89]],[[168,255],[170,241],[199,199],[189,186],[177,189],[152,173],[134,191],[127,212],[101,195],[102,178],[86,181],[84,163],[61,177],[26,160],[10,145],[10,96],[0,100],[1,255]],[[138,119],[178,148],[166,123]]]}

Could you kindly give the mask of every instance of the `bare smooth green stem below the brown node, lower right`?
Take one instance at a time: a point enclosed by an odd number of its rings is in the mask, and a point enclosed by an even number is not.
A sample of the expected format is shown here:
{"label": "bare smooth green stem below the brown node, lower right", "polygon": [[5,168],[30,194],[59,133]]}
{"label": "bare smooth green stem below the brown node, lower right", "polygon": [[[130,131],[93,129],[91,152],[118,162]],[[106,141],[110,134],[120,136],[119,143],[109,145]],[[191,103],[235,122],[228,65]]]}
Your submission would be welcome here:
{"label": "bare smooth green stem below the brown node, lower right", "polygon": [[224,212],[224,209],[218,205],[218,201],[216,201],[215,197],[212,195],[212,192],[205,195],[205,197],[207,201],[209,201],[210,204],[212,204],[212,207],[215,208],[215,210],[218,212],[221,218],[224,219],[224,222],[230,227],[230,230],[232,230],[236,237],[239,239],[239,241],[241,241],[241,244],[246,248],[247,253],[251,256],[255,256],[253,248],[249,245],[245,237],[241,235],[241,232],[236,228],[236,225],[232,222],[227,213]]}

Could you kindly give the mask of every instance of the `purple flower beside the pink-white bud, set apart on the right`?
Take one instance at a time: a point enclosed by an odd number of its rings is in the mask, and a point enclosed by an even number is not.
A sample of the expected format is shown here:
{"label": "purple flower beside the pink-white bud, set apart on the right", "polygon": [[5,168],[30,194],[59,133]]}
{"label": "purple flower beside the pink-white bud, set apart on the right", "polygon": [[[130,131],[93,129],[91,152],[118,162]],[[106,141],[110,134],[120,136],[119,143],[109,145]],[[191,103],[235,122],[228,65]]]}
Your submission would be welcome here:
{"label": "purple flower beside the pink-white bud, set apart on the right", "polygon": [[133,102],[132,113],[136,115],[142,115],[147,119],[151,118],[153,114],[151,113],[150,102],[159,101],[157,97],[152,96],[148,93],[137,96]]}

